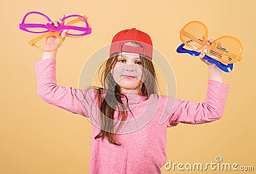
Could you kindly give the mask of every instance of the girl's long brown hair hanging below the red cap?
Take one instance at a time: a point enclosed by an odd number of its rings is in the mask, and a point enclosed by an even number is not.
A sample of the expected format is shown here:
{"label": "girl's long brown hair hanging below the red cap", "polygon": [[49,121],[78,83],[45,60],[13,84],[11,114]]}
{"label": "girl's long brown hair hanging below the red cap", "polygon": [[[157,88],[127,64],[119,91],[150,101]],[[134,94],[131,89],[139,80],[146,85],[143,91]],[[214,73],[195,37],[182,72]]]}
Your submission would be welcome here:
{"label": "girl's long brown hair hanging below the red cap", "polygon": [[[141,86],[141,93],[143,96],[150,96],[152,93],[157,93],[157,83],[156,83],[156,70],[152,61],[144,56],[141,56],[141,66],[144,67],[145,80]],[[109,143],[113,145],[121,145],[116,142],[116,133],[114,133],[114,128],[116,128],[116,132],[118,132],[124,121],[127,120],[128,112],[125,111],[125,107],[129,109],[128,99],[122,94],[121,87],[115,82],[112,75],[109,75],[111,72],[111,68],[115,65],[118,60],[118,55],[110,57],[106,63],[102,64],[99,68],[99,72],[102,71],[101,77],[99,77],[99,81],[102,84],[103,88],[93,86],[92,88],[97,90],[97,99],[100,110],[100,132],[95,139],[97,138],[107,138]],[[102,70],[103,69],[103,70]],[[103,93],[106,93],[105,97],[102,97]],[[111,99],[111,96],[115,96],[115,100]],[[124,105],[122,102],[122,98],[127,100]],[[113,97],[112,97],[113,98]],[[120,121],[119,125],[113,123],[114,113],[116,111],[115,108],[118,109],[118,120]],[[131,109],[129,109],[131,112]],[[132,112],[131,112],[132,114]],[[132,115],[133,116],[133,115]]]}

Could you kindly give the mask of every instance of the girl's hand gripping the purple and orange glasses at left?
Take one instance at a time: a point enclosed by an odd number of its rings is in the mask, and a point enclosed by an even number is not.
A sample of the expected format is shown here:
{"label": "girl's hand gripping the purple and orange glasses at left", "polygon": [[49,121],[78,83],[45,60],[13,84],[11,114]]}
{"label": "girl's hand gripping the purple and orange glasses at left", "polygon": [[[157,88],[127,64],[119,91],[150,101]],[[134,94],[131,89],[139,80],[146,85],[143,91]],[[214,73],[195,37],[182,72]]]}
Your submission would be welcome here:
{"label": "girl's hand gripping the purple and orange glasses at left", "polygon": [[[65,15],[62,15],[61,19],[63,19],[64,17],[65,17]],[[52,26],[57,28],[63,22],[61,19],[54,20],[53,22],[51,21],[51,22],[49,22],[49,24],[51,24]],[[65,40],[67,32],[68,32],[68,29],[64,29],[61,32],[61,38],[63,41]],[[58,47],[59,44],[60,44],[60,41],[57,37],[48,37],[48,38],[46,38],[45,49],[54,49],[54,48]]]}

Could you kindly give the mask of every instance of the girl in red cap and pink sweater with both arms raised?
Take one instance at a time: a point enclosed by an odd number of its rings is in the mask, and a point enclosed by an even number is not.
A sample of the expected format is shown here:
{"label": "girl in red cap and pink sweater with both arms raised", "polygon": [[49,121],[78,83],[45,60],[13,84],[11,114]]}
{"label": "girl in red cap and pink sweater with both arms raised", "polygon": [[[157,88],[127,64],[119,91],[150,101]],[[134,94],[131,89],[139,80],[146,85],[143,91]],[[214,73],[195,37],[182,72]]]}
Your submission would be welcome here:
{"label": "girl in red cap and pink sweater with both arms raised", "polygon": [[[58,26],[61,20],[51,24]],[[63,39],[66,33],[61,33]],[[58,39],[47,38],[47,49],[56,45]],[[44,52],[35,63],[38,95],[49,104],[90,118],[90,173],[161,173],[167,127],[212,122],[223,115],[229,85],[222,83],[221,70],[204,60],[204,52],[200,58],[207,64],[209,81],[205,101],[200,103],[157,95],[152,42],[138,29],[114,36],[102,74],[103,88],[57,85],[56,52]]]}

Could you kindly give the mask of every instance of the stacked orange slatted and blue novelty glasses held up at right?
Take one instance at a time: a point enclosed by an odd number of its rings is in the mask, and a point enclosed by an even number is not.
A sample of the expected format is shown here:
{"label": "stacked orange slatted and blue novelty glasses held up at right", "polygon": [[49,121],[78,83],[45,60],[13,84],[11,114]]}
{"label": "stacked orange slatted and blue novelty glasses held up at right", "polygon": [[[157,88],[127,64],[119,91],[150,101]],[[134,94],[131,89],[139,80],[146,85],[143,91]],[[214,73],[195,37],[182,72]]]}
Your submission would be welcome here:
{"label": "stacked orange slatted and blue novelty glasses held up at right", "polygon": [[[182,44],[177,48],[177,52],[199,56],[201,51],[205,51],[206,61],[214,63],[224,72],[231,72],[233,63],[241,61],[242,43],[233,36],[221,36],[207,46],[207,39],[208,29],[205,24],[191,21],[180,30]],[[185,45],[192,50],[185,49]]]}

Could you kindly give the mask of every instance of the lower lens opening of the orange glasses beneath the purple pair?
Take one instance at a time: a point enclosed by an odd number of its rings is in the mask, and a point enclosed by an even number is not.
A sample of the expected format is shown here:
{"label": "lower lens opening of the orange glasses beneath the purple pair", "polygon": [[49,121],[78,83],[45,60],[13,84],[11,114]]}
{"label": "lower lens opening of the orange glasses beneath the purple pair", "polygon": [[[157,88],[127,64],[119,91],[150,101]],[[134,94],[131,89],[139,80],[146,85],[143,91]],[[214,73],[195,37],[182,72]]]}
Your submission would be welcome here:
{"label": "lower lens opening of the orange glasses beneath the purple pair", "polygon": [[[34,45],[39,49],[42,49],[45,51],[52,51],[60,45],[60,40],[56,36],[51,36],[48,38],[42,38],[41,40],[38,40],[37,42],[34,43]],[[45,46],[45,45],[49,45],[49,46]]]}

